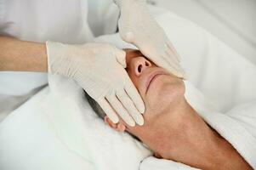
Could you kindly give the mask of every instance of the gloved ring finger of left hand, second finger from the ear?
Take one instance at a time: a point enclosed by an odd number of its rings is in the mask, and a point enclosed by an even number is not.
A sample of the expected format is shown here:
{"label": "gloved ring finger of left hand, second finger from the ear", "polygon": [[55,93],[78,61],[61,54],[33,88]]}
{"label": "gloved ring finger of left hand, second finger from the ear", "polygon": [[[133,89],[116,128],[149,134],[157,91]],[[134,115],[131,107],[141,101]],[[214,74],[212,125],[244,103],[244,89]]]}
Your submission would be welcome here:
{"label": "gloved ring finger of left hand, second finger from the ear", "polygon": [[122,106],[122,103],[117,99],[116,95],[107,95],[106,99],[109,101],[111,106],[117,111],[117,114],[122,117],[122,120],[129,126],[134,127],[134,119],[128,114],[128,111]]}

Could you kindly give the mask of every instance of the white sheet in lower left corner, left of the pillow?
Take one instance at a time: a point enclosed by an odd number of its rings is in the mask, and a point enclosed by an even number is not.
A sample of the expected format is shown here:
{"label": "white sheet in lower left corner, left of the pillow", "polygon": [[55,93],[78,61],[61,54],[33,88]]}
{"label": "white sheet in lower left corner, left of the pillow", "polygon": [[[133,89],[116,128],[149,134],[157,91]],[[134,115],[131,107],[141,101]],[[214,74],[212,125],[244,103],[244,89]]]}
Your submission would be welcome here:
{"label": "white sheet in lower left corner, left of the pillow", "polygon": [[94,169],[87,158],[70,150],[43,112],[43,89],[0,124],[1,170]]}

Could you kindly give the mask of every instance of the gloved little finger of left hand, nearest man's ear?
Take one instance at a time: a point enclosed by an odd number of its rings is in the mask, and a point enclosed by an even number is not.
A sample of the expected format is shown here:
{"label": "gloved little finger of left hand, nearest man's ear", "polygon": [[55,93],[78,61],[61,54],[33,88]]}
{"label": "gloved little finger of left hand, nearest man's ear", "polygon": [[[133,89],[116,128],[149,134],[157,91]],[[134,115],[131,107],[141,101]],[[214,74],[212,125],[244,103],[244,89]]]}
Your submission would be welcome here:
{"label": "gloved little finger of left hand, nearest man's ear", "polygon": [[100,99],[98,101],[98,104],[100,105],[101,109],[105,111],[105,114],[111,119],[111,122],[119,122],[116,111],[113,110],[113,108],[106,99]]}

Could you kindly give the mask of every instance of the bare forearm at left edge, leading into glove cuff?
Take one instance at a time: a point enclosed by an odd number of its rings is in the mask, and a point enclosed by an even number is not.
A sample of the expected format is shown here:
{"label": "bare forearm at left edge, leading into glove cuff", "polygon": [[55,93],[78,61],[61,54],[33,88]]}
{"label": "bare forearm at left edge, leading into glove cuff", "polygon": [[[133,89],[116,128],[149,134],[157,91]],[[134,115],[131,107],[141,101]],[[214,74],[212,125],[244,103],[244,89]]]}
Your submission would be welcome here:
{"label": "bare forearm at left edge, leading into glove cuff", "polygon": [[0,71],[47,72],[47,68],[44,43],[0,36]]}

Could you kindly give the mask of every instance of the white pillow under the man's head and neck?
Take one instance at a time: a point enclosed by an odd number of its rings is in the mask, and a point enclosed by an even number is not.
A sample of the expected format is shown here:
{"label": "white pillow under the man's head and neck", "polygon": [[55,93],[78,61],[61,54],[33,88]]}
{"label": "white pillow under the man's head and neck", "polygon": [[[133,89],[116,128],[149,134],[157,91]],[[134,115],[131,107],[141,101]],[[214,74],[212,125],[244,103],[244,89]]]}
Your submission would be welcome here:
{"label": "white pillow under the man's head and neck", "polygon": [[75,82],[58,76],[48,80],[51,93],[43,108],[56,132],[71,150],[94,162],[97,169],[138,169],[140,161],[151,155],[128,133],[118,133],[106,125]]}

